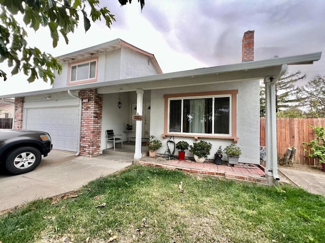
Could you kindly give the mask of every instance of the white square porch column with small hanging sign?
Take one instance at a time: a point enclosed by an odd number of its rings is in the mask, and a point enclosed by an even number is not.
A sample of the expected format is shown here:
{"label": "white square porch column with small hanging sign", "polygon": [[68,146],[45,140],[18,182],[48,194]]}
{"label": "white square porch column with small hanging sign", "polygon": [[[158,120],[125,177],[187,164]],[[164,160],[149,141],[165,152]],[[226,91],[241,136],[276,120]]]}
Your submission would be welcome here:
{"label": "white square porch column with small hanging sign", "polygon": [[[143,93],[144,90],[137,89],[137,115],[142,115],[142,104],[143,104]],[[134,154],[135,159],[142,157],[141,145],[142,145],[142,120],[136,121],[136,151]]]}

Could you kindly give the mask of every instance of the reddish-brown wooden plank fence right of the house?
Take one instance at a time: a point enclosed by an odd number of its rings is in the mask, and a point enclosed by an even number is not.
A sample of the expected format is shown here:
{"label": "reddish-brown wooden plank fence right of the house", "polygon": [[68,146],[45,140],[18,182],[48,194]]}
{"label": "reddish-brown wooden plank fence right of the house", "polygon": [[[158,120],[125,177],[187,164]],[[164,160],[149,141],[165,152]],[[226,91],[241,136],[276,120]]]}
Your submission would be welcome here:
{"label": "reddish-brown wooden plank fence right of the house", "polygon": [[[304,149],[309,147],[303,142],[310,142],[316,138],[312,128],[307,125],[325,127],[325,118],[277,118],[277,150],[278,160],[283,157],[288,147],[295,146],[297,153],[294,158],[295,163],[305,165],[319,165],[318,160],[308,157],[308,152]],[[265,117],[261,117],[260,124],[260,145],[266,146],[265,138]]]}

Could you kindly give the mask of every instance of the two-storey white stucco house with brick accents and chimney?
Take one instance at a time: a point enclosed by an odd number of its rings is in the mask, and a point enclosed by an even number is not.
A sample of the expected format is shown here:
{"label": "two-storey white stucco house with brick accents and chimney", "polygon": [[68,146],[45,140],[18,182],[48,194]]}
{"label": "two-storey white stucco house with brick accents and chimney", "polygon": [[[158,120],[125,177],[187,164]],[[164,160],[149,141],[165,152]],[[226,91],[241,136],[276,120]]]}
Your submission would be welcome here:
{"label": "two-storey white stucco house with brick accents and chimney", "polygon": [[[164,145],[158,153],[174,136],[175,142],[211,142],[208,158],[219,145],[238,143],[240,162],[259,164],[259,80],[266,84],[268,141],[274,145],[276,81],[287,65],[312,64],[321,53],[253,61],[254,31],[245,32],[242,43],[241,63],[162,73],[154,55],[116,39],[59,57],[63,70],[52,89],[0,98],[15,98],[16,129],[48,131],[56,149],[99,155],[106,149],[105,130],[126,141],[123,131],[132,123],[136,159],[143,139],[153,135]],[[133,120],[134,114],[143,119]]]}

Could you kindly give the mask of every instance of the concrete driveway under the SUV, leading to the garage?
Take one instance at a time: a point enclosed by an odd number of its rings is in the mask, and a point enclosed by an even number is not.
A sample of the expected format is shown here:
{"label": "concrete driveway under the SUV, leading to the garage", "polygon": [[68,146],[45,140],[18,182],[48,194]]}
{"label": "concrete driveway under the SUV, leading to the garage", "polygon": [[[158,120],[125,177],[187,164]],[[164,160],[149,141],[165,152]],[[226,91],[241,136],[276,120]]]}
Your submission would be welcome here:
{"label": "concrete driveway under the SUV, leading to the garage", "polygon": [[38,198],[48,198],[79,189],[88,182],[132,165],[133,159],[114,155],[74,156],[52,150],[34,171],[12,176],[0,174],[0,211]]}

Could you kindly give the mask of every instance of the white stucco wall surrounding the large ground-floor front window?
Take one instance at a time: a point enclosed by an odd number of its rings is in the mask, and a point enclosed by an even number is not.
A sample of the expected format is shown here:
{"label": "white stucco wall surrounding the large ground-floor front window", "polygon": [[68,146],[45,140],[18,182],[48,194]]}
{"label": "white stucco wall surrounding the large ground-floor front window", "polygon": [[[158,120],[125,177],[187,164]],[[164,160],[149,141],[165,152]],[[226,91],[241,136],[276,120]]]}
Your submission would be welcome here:
{"label": "white stucco wall surrounding the large ground-floor front window", "polygon": [[[163,142],[163,147],[157,153],[164,153],[167,149],[167,139],[161,138],[164,133],[164,95],[190,92],[206,92],[221,90],[238,90],[237,96],[237,145],[242,148],[239,158],[241,163],[259,164],[259,80],[244,82],[232,82],[226,84],[201,85],[172,89],[157,89],[151,91],[151,122],[150,135]],[[193,138],[175,137],[175,142],[185,140],[193,144]],[[199,139],[201,140],[201,139]],[[212,149],[208,158],[213,159],[219,145],[222,148],[232,143],[229,139],[202,139],[212,143]],[[177,154],[177,149],[176,149]],[[192,154],[186,151],[186,156]],[[226,159],[226,157],[224,157]]]}

